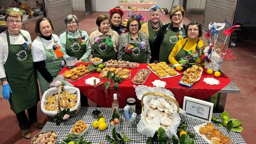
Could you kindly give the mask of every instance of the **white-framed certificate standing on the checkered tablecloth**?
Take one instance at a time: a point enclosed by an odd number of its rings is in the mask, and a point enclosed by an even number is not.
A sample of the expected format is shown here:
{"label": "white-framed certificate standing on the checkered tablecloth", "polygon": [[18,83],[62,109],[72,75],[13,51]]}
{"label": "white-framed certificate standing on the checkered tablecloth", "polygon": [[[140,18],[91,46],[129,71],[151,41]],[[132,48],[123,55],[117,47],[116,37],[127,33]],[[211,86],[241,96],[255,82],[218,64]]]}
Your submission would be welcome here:
{"label": "white-framed certificate standing on the checkered tablecloth", "polygon": [[203,122],[211,122],[213,103],[185,96],[183,110],[187,116],[199,119]]}

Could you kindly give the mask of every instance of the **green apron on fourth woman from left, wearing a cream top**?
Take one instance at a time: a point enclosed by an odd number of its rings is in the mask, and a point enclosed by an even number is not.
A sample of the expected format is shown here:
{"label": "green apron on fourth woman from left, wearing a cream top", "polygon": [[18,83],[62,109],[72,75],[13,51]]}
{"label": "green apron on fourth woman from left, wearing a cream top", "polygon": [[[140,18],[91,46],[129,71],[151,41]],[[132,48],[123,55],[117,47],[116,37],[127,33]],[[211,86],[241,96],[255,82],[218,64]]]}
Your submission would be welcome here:
{"label": "green apron on fourth woman from left, wearing a cream top", "polygon": [[92,57],[98,57],[103,60],[103,62],[108,60],[116,60],[117,59],[117,53],[114,50],[113,44],[111,46],[107,46],[106,43],[107,38],[101,38],[101,41],[99,44],[94,43],[93,44],[93,51],[92,51]]}

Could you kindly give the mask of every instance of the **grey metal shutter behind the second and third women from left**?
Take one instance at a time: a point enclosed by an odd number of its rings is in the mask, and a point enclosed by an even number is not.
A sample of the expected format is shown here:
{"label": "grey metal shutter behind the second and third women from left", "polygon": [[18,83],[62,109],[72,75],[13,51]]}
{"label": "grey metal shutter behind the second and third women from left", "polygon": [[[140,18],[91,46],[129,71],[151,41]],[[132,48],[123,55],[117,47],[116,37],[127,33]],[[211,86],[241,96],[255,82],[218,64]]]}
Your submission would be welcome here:
{"label": "grey metal shutter behind the second and third women from left", "polygon": [[67,15],[72,14],[71,0],[45,0],[46,17],[52,21],[53,33],[60,35],[67,29],[64,20]]}

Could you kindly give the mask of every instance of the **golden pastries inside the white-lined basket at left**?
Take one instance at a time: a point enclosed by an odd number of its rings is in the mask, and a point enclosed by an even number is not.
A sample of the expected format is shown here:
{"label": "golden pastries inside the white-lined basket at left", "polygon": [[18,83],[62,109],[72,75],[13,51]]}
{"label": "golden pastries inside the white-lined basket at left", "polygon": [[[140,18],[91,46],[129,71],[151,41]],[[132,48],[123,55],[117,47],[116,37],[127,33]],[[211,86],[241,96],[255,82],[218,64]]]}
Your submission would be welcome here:
{"label": "golden pastries inside the white-lined basket at left", "polygon": [[[55,111],[58,110],[58,94],[52,94],[49,95],[47,98],[46,105],[44,106],[44,109],[47,111]],[[71,94],[68,91],[63,91],[60,94],[60,106],[62,109],[66,108],[73,108],[76,106],[77,103],[77,94],[73,93]]]}

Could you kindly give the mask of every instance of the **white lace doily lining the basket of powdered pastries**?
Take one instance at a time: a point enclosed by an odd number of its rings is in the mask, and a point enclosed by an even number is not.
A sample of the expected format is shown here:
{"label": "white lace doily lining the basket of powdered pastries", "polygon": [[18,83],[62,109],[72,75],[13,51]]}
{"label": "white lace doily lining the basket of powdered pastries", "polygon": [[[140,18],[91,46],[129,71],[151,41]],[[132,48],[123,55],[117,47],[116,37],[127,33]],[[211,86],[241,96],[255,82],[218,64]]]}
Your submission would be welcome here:
{"label": "white lace doily lining the basket of powdered pastries", "polygon": [[[142,95],[147,92],[164,93],[164,94],[168,95],[169,97],[172,97],[173,99],[175,99],[174,95],[171,91],[162,89],[161,87],[149,87],[149,86],[145,86],[145,85],[139,85],[139,86],[133,85],[133,87],[135,88],[135,92],[136,92],[137,98],[139,100],[141,100]],[[157,98],[160,98],[160,97],[156,96],[156,95],[147,95],[146,97],[143,98],[143,111],[141,113],[141,119],[140,119],[139,123],[137,124],[137,130],[142,135],[146,135],[146,137],[153,137],[155,132],[157,131],[156,127],[152,127],[146,123],[146,115],[149,110],[149,105],[147,103],[149,103],[151,99],[157,99]],[[164,97],[161,97],[161,98],[165,99]],[[172,115],[173,122],[170,126],[168,126],[165,129],[165,132],[166,132],[167,137],[169,137],[169,138],[171,138],[172,135],[177,137],[177,135],[176,135],[177,127],[180,124],[180,117],[179,117],[179,114],[177,113],[177,106],[169,99],[165,99],[165,100],[171,104],[171,106],[173,107],[173,110],[174,110],[174,113]]]}

